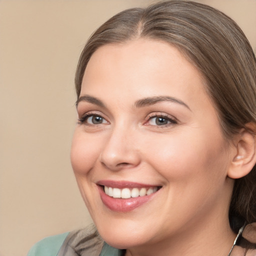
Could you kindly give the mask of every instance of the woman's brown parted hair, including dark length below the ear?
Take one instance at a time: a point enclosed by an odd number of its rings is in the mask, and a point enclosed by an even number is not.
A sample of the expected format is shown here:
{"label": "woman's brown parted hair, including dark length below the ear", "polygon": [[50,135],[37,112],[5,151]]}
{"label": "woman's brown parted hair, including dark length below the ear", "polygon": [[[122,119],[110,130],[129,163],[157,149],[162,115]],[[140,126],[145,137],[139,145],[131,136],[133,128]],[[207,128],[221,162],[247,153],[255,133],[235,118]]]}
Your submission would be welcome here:
{"label": "woman's brown parted hair, including dark length below the ear", "polygon": [[[198,68],[227,139],[247,129],[246,123],[256,123],[256,60],[248,40],[231,18],[192,1],[170,0],[127,9],[102,24],[81,53],[75,74],[77,98],[93,52],[107,43],[136,38],[170,43]],[[233,230],[241,221],[256,221],[255,166],[235,180],[229,212],[236,220],[231,223]]]}

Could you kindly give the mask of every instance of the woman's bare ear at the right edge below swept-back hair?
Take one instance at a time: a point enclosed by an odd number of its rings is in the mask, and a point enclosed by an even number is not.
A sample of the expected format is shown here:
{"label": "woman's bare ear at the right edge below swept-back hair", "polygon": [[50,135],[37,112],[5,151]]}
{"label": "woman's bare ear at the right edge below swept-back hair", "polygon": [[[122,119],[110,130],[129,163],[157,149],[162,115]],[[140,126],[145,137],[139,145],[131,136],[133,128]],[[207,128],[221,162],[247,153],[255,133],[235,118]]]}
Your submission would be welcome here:
{"label": "woman's bare ear at the right edge below swept-back hair", "polygon": [[256,130],[255,123],[246,124],[247,129],[242,128],[235,136],[235,155],[228,168],[227,175],[230,178],[240,178],[248,174],[256,162]]}

